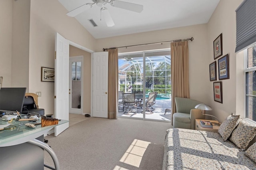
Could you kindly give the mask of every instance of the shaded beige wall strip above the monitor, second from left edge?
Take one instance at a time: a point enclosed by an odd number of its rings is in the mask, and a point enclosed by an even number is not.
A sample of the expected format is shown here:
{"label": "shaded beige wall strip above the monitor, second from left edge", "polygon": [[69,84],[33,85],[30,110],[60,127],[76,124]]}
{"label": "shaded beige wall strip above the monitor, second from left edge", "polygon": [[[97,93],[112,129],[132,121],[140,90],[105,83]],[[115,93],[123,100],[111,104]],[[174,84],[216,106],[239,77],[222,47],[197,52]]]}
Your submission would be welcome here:
{"label": "shaded beige wall strip above the monitor, second from left edge", "polygon": [[30,0],[13,1],[12,87],[28,87]]}

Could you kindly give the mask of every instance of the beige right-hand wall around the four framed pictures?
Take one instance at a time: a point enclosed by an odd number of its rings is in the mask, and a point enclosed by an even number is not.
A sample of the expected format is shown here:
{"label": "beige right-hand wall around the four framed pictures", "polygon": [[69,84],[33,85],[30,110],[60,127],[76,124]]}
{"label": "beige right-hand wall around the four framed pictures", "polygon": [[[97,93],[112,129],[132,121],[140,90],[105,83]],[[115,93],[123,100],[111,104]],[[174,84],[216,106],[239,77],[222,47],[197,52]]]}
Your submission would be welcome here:
{"label": "beige right-hand wall around the four framed pictures", "polygon": [[[216,117],[220,119],[220,121],[224,121],[224,119],[230,115],[231,113],[244,116],[244,112],[238,113],[236,111],[236,107],[240,107],[244,105],[243,102],[236,104],[237,99],[237,89],[239,91],[243,91],[244,88],[241,86],[237,86],[237,81],[242,81],[240,78],[236,79],[236,8],[242,3],[243,0],[220,0],[214,14],[210,18],[207,24],[207,55],[208,58],[207,64],[208,68],[205,71],[209,71],[209,64],[214,61],[213,56],[213,41],[222,33],[222,51],[223,55],[229,55],[229,79],[221,80],[222,81],[222,95],[223,95],[223,103],[218,103],[214,101],[213,98],[213,82],[209,80],[204,81],[204,84],[208,87],[209,92],[205,93],[208,98],[208,102],[210,106],[212,106],[213,110],[209,113],[212,113]],[[222,56],[223,56],[222,55]],[[220,57],[219,57],[220,58]],[[219,59],[218,58],[218,59]],[[218,63],[218,59],[215,61]],[[240,64],[243,65],[243,60],[239,59]],[[217,66],[218,69],[218,66]],[[217,76],[218,80],[218,76]],[[241,97],[241,96],[240,96]],[[239,106],[238,106],[239,105]]]}

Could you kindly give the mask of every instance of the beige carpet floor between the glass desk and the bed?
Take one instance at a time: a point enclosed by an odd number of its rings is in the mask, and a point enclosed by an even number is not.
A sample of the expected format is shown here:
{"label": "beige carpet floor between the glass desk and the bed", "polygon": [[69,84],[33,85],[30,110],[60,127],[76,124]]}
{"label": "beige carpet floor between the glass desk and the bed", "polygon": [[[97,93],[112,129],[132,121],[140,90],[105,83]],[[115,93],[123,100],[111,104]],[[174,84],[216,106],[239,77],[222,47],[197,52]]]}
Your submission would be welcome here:
{"label": "beige carpet floor between the glass desk and the bed", "polygon": [[[91,117],[45,138],[62,170],[162,170],[168,128],[171,123]],[[54,167],[46,151],[44,163]]]}

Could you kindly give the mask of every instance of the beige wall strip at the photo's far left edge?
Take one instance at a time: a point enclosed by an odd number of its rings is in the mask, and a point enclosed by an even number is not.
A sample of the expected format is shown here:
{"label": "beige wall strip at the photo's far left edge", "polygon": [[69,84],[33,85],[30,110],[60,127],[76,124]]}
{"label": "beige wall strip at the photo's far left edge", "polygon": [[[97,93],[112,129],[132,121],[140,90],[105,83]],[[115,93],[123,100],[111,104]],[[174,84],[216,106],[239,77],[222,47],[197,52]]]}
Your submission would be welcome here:
{"label": "beige wall strip at the photo's far left edge", "polygon": [[11,86],[12,78],[12,1],[0,0],[0,76],[2,87]]}

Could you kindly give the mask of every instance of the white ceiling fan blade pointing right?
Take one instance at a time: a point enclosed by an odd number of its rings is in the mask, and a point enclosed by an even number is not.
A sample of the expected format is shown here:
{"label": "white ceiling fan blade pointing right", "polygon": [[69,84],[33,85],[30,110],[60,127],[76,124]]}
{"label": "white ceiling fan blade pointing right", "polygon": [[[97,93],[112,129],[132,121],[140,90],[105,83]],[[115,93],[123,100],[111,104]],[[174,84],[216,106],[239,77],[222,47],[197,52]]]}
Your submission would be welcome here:
{"label": "white ceiling fan blade pointing right", "polygon": [[122,8],[125,10],[130,10],[130,11],[134,11],[134,12],[142,12],[143,10],[143,5],[139,5],[139,4],[133,4],[130,2],[124,2],[124,1],[119,1],[119,0],[113,0],[111,2],[111,5],[117,8]]}

